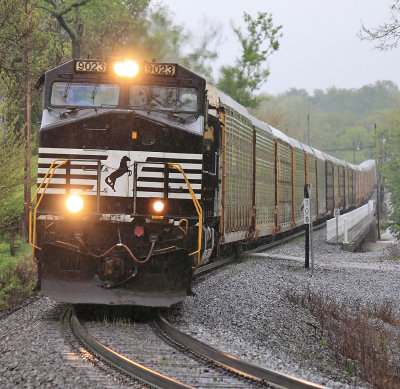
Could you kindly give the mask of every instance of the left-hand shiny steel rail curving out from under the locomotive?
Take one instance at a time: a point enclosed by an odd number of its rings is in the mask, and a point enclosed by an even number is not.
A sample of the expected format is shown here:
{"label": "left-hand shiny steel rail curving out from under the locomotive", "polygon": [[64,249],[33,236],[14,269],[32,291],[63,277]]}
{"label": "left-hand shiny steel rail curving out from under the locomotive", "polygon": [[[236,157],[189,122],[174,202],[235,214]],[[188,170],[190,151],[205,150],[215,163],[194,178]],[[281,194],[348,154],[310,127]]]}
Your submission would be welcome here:
{"label": "left-hand shiny steel rail curving out from under the locomotive", "polygon": [[193,387],[151,370],[105,346],[82,327],[73,308],[66,314],[74,336],[92,353],[129,376],[160,389],[190,389]]}

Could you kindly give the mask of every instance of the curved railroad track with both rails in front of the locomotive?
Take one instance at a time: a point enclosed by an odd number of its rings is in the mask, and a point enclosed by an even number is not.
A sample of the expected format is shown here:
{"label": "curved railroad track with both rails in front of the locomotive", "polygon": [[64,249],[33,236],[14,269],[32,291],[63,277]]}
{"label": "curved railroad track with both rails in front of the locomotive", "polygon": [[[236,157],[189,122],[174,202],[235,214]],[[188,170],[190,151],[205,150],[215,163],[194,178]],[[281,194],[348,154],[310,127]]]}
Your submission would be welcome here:
{"label": "curved railroad track with both rails in front of the locomotive", "polygon": [[174,328],[158,312],[139,323],[107,319],[82,324],[73,307],[65,317],[87,350],[150,387],[321,388],[210,347]]}

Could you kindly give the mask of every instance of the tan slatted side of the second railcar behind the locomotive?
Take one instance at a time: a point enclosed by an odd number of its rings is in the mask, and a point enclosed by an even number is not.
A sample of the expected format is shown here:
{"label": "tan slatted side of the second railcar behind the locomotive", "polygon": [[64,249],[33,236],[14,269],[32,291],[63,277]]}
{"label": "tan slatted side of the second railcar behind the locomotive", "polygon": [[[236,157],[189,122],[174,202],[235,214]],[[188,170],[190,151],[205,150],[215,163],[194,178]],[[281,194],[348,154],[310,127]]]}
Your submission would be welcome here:
{"label": "tan slatted side of the second railcar behind the locomotive", "polygon": [[258,236],[269,235],[274,228],[275,209],[274,140],[256,128],[256,229]]}

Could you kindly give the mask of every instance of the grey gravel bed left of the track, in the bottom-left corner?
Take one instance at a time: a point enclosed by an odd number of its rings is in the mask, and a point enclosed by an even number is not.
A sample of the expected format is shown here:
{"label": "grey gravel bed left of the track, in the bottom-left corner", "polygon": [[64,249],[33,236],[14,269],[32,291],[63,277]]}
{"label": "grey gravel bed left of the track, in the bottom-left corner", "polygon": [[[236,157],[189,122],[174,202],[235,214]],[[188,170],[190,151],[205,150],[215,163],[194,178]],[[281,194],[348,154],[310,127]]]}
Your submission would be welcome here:
{"label": "grey gravel bed left of the track, in the bottom-left corner", "polygon": [[60,324],[65,307],[42,297],[0,320],[0,388],[121,387],[71,348]]}

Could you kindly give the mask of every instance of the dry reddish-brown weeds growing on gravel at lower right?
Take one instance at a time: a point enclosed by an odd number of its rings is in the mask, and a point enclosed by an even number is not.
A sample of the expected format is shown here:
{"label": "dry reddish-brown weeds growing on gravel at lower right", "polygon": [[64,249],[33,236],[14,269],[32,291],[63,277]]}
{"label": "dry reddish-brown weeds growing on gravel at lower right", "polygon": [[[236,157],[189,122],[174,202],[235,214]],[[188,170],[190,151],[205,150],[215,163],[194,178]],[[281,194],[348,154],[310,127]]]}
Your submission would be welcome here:
{"label": "dry reddish-brown weeds growing on gravel at lower right", "polygon": [[288,290],[285,296],[317,319],[318,341],[334,351],[348,374],[358,375],[374,388],[400,387],[400,318],[392,302],[349,309],[321,293],[300,295]]}

